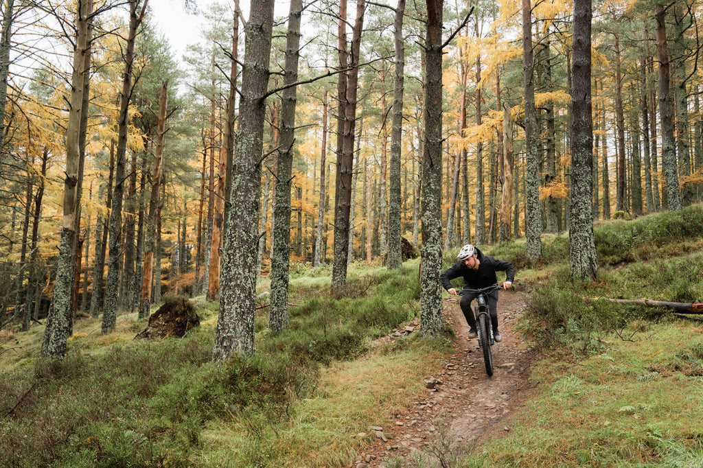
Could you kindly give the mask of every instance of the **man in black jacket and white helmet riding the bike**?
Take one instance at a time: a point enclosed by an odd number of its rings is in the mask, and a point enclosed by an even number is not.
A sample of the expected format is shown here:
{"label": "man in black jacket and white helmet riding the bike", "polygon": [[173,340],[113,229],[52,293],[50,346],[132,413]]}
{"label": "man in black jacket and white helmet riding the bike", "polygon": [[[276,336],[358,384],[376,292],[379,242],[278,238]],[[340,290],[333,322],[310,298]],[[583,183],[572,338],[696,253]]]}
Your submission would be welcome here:
{"label": "man in black jacket and white helmet riding the bike", "polygon": [[[449,294],[458,294],[449,281],[454,278],[459,278],[460,276],[464,277],[465,287],[470,287],[472,289],[481,289],[495,285],[498,282],[496,271],[505,271],[503,288],[506,290],[512,285],[513,280],[515,280],[515,268],[509,261],[498,260],[490,255],[486,255],[471,244],[461,247],[456,258],[459,259],[456,264],[447,268],[440,277],[442,287],[444,287]],[[498,311],[496,310],[496,305],[498,304],[498,290],[485,294],[485,296],[491,315],[494,339],[496,342],[501,342],[503,337],[501,337],[501,334],[498,332]],[[476,299],[476,297],[478,297],[476,293],[463,294],[461,296],[461,301],[459,301],[459,306],[464,313],[466,323],[468,323],[470,327],[469,339],[478,336],[476,331],[476,318],[474,317],[474,312],[471,310],[471,301]]]}

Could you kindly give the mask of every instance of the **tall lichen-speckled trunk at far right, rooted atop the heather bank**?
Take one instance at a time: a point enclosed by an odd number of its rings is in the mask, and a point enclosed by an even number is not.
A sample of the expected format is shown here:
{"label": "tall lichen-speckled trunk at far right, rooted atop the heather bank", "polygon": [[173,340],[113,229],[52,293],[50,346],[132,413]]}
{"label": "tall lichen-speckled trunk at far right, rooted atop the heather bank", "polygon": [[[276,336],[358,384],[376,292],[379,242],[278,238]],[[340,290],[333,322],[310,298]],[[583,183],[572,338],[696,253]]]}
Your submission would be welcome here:
{"label": "tall lichen-speckled trunk at far right, rooted atop the heather bank", "polygon": [[657,58],[659,58],[659,115],[662,125],[662,169],[666,178],[666,195],[669,209],[677,210],[683,206],[681,189],[678,187],[676,167],[676,148],[673,140],[673,112],[669,96],[669,53],[666,51],[666,23],[664,13],[666,6],[657,4]]}

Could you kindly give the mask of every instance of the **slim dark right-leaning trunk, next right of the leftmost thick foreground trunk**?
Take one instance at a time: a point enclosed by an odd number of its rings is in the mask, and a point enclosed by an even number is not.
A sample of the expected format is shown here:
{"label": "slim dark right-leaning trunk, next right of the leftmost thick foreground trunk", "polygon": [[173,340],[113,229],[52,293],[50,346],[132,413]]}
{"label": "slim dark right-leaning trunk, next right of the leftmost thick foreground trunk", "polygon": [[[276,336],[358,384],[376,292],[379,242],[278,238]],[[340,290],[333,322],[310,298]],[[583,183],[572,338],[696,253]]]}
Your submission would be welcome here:
{"label": "slim dark right-leaning trunk, next right of the leftmost thick foreground trunk", "polygon": [[129,100],[131,98],[131,78],[134,68],[134,43],[141,21],[146,13],[148,0],[144,0],[141,12],[137,13],[139,1],[129,0],[129,36],[124,54],[124,77],[120,95],[120,119],[117,136],[117,164],[115,167],[115,188],[112,192],[110,212],[110,259],[108,261],[108,281],[105,285],[105,307],[103,310],[103,333],[115,331],[117,324],[117,285],[120,278],[120,228],[122,228],[122,193],[124,192],[124,162],[127,152]]}

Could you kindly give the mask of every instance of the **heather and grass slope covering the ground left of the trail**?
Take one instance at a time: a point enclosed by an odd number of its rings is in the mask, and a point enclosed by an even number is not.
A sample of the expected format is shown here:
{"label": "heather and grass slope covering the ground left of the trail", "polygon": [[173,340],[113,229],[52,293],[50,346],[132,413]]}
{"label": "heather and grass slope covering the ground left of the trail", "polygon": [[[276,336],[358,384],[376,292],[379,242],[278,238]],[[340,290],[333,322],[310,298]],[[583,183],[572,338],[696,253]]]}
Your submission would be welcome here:
{"label": "heather and grass slope covering the ground left of the trail", "polygon": [[[294,285],[291,301],[299,305],[289,329],[270,334],[262,309],[257,355],[219,366],[210,362],[217,305],[202,299],[195,301],[201,326],[182,339],[134,340],[146,326],[136,316],[120,316],[118,332],[101,335],[88,319],[76,324],[64,359],[30,363],[41,339],[34,332],[35,342],[20,342],[27,354],[14,356],[0,377],[7,416],[0,466],[347,462],[368,443],[350,435],[378,422],[378,408],[403,405],[446,353],[441,342],[404,339],[368,354],[371,340],[418,313],[419,290],[417,268],[408,267],[351,276],[348,294],[337,297],[328,286]],[[394,377],[378,382],[382,375]],[[218,448],[225,439],[226,454]]]}

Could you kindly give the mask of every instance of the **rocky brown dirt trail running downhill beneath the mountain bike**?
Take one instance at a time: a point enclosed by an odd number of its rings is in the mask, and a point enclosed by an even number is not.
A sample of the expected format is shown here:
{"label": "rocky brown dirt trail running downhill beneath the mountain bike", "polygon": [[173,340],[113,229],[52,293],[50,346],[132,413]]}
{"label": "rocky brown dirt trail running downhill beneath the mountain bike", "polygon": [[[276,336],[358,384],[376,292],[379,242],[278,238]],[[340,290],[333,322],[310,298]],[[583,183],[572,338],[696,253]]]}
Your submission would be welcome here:
{"label": "rocky brown dirt trail running downhill beneath the mountain bike", "polygon": [[458,299],[445,299],[444,320],[456,333],[456,353],[434,375],[427,376],[441,384],[427,389],[406,412],[396,415],[395,427],[384,427],[377,433],[376,443],[349,466],[383,467],[393,457],[401,457],[402,466],[414,466],[414,455],[428,453],[437,439],[437,424],[448,429],[449,440],[459,446],[509,430],[508,418],[522,408],[531,389],[529,366],[534,351],[524,346],[522,336],[513,330],[524,303],[520,292],[501,292],[498,320],[503,341],[492,349],[494,375],[488,377],[478,341],[466,339],[469,327]]}

